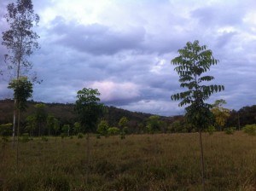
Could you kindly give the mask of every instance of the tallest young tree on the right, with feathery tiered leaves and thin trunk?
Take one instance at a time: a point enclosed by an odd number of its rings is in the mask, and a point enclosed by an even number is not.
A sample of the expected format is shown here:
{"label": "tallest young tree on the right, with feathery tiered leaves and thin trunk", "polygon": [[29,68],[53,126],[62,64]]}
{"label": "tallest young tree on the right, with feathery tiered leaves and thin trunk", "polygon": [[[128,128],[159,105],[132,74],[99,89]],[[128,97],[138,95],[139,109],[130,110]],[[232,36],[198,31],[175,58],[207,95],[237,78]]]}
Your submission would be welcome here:
{"label": "tallest young tree on the right, with feathery tiered leaves and thin trunk", "polygon": [[214,92],[224,90],[224,86],[203,84],[204,82],[212,81],[214,77],[202,76],[202,74],[210,70],[212,65],[218,63],[218,60],[212,56],[212,50],[207,49],[206,45],[200,46],[197,40],[194,43],[188,42],[183,49],[178,49],[178,53],[179,55],[171,63],[177,66],[174,70],[179,75],[180,87],[188,90],[172,95],[171,99],[174,101],[181,100],[179,107],[189,105],[185,108],[185,116],[189,123],[199,130],[202,189],[205,190],[205,167],[201,132],[212,123],[211,105],[205,101]]}

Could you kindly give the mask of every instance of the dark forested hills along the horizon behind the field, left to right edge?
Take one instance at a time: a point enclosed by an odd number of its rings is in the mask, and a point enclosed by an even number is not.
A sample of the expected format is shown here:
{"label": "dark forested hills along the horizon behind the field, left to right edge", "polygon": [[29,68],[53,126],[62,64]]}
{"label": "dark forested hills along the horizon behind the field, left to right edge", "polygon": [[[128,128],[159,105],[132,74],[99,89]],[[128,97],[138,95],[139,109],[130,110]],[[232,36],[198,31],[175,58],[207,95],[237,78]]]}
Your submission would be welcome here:
{"label": "dark forested hills along the horizon behind the field, left to right edge", "polygon": [[[20,114],[21,126],[26,126],[26,117],[36,113],[35,105],[42,102],[29,101],[28,108],[25,113]],[[52,114],[56,119],[60,121],[61,126],[63,124],[73,125],[77,119],[77,115],[74,111],[74,104],[67,103],[44,103],[46,105],[46,113]],[[0,100],[0,124],[12,123],[13,121],[13,100]],[[129,128],[132,132],[142,129],[145,131],[147,120],[152,114],[150,113],[137,113],[131,112],[125,109],[117,107],[107,107],[108,113],[105,113],[103,119],[108,121],[108,124],[112,127],[118,126],[119,119],[126,117],[129,120]],[[172,132],[190,132],[191,128],[186,124],[186,120],[183,116],[163,117],[160,116],[160,120],[164,122],[162,130],[169,130]],[[224,127],[235,127],[240,130],[246,124],[256,124],[256,105],[241,107],[240,110],[230,111],[230,117],[226,120]]]}

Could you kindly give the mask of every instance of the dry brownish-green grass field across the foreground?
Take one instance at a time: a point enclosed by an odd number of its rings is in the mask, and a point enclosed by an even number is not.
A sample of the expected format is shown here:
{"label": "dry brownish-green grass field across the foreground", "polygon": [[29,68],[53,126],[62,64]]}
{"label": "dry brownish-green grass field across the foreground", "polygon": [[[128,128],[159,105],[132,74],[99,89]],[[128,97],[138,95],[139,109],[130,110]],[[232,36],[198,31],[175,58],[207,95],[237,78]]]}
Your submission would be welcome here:
{"label": "dry brownish-green grass field across the foreground", "polygon": [[[1,147],[3,190],[201,190],[197,133],[49,137]],[[256,137],[203,134],[206,190],[256,189]],[[89,152],[88,152],[89,148]]]}

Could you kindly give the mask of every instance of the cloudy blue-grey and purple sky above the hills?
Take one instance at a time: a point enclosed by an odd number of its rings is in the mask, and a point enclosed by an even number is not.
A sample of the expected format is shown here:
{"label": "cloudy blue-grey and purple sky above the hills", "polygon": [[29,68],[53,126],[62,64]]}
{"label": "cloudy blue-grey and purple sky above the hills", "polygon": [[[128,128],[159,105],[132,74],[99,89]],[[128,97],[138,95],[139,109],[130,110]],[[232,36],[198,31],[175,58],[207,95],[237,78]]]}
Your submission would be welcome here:
{"label": "cloudy blue-grey and purple sky above the hills", "polygon": [[[0,32],[8,3],[0,1]],[[199,40],[218,65],[207,75],[225,90],[211,96],[229,109],[256,104],[255,0],[36,0],[38,49],[29,58],[42,84],[34,101],[74,103],[77,91],[98,89],[108,106],[164,116],[184,107],[171,96],[180,88],[171,61]],[[2,38],[0,39],[2,41]],[[12,98],[0,45],[0,99]]]}

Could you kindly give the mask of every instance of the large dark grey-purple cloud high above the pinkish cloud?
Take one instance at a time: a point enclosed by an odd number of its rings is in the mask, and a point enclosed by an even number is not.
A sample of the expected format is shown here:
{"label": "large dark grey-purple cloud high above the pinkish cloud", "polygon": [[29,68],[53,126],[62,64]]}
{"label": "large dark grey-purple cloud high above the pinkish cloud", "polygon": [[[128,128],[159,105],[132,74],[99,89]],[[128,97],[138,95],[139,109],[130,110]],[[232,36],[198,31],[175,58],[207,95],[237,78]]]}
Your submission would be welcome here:
{"label": "large dark grey-purple cloud high above the pinkish cloud", "polygon": [[136,49],[143,42],[145,33],[142,27],[130,31],[114,31],[100,24],[66,24],[61,18],[56,18],[53,26],[52,32],[61,37],[55,43],[92,55],[114,55],[122,50]]}

